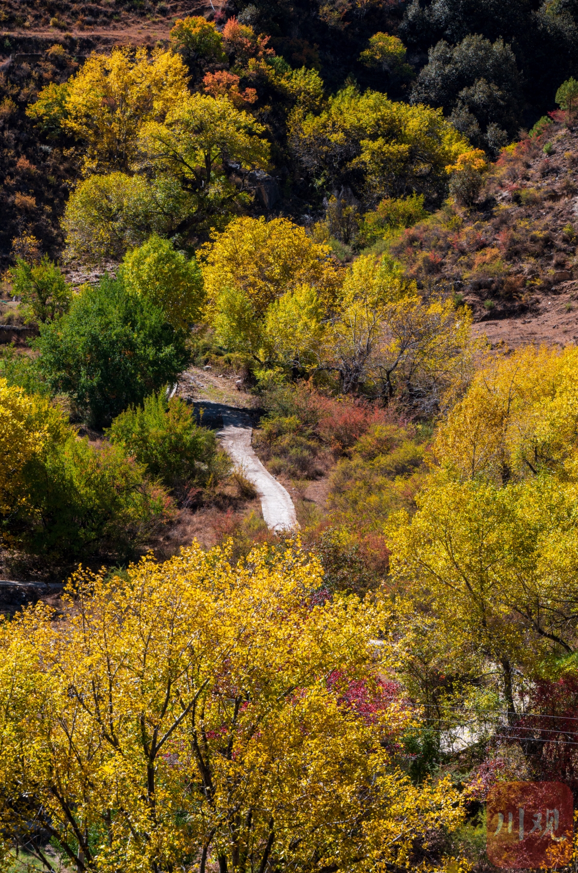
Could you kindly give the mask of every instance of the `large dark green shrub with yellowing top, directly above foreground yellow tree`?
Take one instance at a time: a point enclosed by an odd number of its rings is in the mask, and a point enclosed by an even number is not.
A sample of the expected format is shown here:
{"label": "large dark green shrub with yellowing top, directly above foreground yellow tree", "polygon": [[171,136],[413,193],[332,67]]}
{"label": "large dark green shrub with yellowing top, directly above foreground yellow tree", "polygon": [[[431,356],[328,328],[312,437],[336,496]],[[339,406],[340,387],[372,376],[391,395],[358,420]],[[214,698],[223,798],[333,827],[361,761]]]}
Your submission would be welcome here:
{"label": "large dark green shrub with yellowing top, directly above foreground yellow tree", "polygon": [[167,492],[119,446],[99,448],[71,434],[24,472],[29,496],[6,525],[10,540],[50,560],[124,559],[172,514]]}

